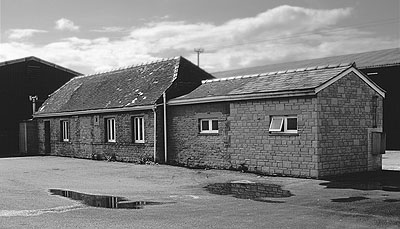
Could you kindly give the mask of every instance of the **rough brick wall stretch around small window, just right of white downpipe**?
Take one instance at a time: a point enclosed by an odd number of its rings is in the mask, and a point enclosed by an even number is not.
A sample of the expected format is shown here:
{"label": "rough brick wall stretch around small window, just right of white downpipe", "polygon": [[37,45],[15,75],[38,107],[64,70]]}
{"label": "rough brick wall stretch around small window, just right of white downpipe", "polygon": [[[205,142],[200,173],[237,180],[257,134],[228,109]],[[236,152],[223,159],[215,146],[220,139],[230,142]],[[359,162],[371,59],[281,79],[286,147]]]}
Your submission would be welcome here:
{"label": "rough brick wall stretch around small window, just right of white downpipe", "polygon": [[[170,106],[168,154],[172,164],[229,168],[229,103]],[[199,120],[218,119],[218,134],[201,134]]]}

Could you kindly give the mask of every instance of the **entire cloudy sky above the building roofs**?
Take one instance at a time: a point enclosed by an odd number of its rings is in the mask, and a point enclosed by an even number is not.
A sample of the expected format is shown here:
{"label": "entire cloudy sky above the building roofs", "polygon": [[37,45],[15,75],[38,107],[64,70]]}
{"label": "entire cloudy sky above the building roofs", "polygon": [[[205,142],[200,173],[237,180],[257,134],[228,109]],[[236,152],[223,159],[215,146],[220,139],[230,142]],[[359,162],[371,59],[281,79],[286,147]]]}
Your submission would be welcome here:
{"label": "entire cloudy sky above the building roofs", "polygon": [[208,72],[400,47],[400,0],[0,0],[0,62],[83,74],[183,56]]}

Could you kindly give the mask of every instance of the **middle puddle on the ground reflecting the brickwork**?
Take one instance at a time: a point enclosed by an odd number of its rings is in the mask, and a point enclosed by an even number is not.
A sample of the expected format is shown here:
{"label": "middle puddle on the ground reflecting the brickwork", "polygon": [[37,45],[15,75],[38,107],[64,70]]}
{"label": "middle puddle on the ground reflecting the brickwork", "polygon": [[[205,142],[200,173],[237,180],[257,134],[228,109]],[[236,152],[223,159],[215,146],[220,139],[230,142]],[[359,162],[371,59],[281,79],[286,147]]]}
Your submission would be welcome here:
{"label": "middle puddle on the ground reflecting the brickwork", "polygon": [[205,189],[212,194],[232,195],[233,197],[240,199],[252,199],[269,203],[283,202],[265,200],[262,198],[282,198],[293,196],[290,191],[283,190],[280,185],[253,182],[215,183],[207,185]]}

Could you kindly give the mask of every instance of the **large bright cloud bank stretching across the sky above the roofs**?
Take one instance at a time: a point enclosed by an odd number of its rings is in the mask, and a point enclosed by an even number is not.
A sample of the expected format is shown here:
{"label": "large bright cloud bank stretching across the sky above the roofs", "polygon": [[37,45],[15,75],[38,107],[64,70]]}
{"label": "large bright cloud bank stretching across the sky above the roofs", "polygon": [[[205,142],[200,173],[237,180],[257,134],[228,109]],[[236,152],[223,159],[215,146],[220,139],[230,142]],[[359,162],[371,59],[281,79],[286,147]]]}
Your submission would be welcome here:
{"label": "large bright cloud bank stretching across the sky above the roofs", "polygon": [[[359,29],[332,28],[352,12],[351,8],[321,10],[280,6],[220,25],[155,21],[133,27],[120,38],[69,37],[45,45],[3,43],[0,58],[36,55],[92,73],[177,55],[195,63],[197,56],[193,49],[202,47],[205,52],[200,55],[201,66],[215,72],[397,46],[395,38]],[[108,35],[106,31],[119,29],[104,27],[96,32]]]}

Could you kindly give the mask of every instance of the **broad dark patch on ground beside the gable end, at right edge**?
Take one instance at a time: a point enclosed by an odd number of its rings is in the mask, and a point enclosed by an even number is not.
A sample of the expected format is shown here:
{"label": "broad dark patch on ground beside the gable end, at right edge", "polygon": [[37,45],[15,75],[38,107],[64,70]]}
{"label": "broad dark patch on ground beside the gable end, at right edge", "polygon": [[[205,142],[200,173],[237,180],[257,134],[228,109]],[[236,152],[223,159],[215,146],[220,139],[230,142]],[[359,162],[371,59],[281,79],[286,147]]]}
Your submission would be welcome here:
{"label": "broad dark patch on ground beside the gable end, at right edge", "polygon": [[400,171],[383,170],[334,177],[320,185],[326,188],[400,192]]}

